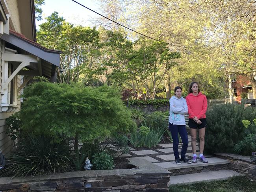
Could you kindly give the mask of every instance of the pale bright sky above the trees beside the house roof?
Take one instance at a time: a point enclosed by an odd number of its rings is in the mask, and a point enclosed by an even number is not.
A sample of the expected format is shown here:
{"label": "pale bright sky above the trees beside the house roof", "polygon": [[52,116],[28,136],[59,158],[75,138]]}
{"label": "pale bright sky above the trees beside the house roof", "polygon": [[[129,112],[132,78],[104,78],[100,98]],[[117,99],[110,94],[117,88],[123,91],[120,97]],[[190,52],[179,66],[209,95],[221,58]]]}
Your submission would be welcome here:
{"label": "pale bright sky above the trees beside the house roof", "polygon": [[[98,10],[98,1],[96,0],[76,0],[80,4],[93,9],[100,13]],[[45,0],[45,5],[41,6],[43,13],[43,18],[50,16],[54,11],[59,13],[59,16],[66,19],[67,22],[70,22],[74,25],[82,26],[91,26],[94,24],[91,22],[94,18],[97,18],[98,15],[92,11],[85,9],[84,7],[76,4],[71,0]],[[36,21],[36,26],[39,28],[39,25],[46,20]]]}

